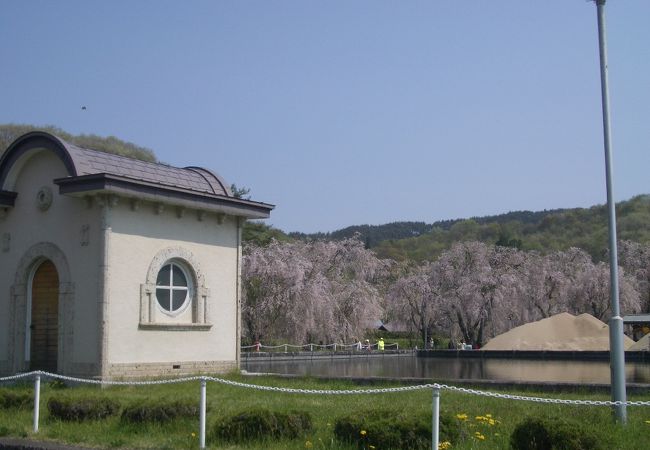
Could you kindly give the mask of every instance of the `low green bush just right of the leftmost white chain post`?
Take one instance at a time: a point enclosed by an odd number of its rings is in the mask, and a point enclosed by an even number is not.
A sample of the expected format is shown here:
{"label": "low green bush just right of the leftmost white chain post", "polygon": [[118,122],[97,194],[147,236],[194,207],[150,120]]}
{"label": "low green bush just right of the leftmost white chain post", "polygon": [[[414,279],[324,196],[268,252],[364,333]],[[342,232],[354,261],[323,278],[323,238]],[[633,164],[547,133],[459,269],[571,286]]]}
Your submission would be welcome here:
{"label": "low green bush just right of the leftmost white chain post", "polygon": [[51,417],[66,422],[97,420],[117,414],[120,405],[107,397],[52,397],[47,402]]}

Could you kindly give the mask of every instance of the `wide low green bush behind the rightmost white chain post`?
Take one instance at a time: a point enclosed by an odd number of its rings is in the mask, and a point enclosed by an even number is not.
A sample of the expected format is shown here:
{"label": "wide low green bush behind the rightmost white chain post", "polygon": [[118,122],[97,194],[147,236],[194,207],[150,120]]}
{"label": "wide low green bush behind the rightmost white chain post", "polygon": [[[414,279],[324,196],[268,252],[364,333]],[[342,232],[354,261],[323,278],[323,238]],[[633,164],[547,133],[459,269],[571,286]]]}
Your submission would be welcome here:
{"label": "wide low green bush behind the rightmost white chain post", "polygon": [[[440,440],[457,442],[461,435],[458,421],[440,415]],[[334,425],[339,441],[356,443],[359,448],[431,448],[431,415],[373,410],[341,417]]]}

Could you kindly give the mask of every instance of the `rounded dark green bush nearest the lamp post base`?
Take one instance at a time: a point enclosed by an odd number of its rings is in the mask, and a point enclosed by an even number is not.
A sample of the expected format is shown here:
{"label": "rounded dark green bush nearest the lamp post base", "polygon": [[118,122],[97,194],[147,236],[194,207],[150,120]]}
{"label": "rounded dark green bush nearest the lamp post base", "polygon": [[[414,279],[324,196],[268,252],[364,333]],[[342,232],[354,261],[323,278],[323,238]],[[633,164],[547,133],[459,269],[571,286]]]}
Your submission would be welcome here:
{"label": "rounded dark green bush nearest the lamp post base", "polygon": [[556,418],[528,417],[510,435],[514,450],[599,450],[611,448],[609,444],[594,429]]}

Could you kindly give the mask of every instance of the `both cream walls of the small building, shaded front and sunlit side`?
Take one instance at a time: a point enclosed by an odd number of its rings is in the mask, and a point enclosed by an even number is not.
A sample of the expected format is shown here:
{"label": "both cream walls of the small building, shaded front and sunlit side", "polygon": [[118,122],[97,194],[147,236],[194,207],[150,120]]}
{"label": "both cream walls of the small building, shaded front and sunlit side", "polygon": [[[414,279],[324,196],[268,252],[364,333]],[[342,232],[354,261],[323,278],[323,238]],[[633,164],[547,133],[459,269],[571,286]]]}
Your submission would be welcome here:
{"label": "both cream walls of the small building, shaded front and sunlit side", "polygon": [[[80,375],[135,373],[127,366],[147,365],[164,372],[172,365],[188,363],[193,370],[227,370],[238,355],[238,219],[188,210],[179,217],[174,207],[160,212],[152,203],[133,208],[127,198],[108,202],[101,197],[88,202],[81,197],[61,196],[52,180],[68,174],[50,151],[36,152],[23,166],[13,190],[15,207],[0,219],[0,237],[10,233],[9,251],[0,250],[0,372],[20,370],[10,361],[12,346],[23,346],[11,324],[10,288],[17,267],[28,249],[42,242],[58,247],[69,266],[73,295],[70,304],[60,305],[60,341],[65,361],[60,371]],[[36,205],[40,187],[48,186],[53,202],[47,211]],[[5,187],[6,188],[6,187]],[[82,227],[88,240],[82,240]],[[106,232],[104,232],[106,228]],[[108,267],[104,270],[103,244],[107,245]],[[209,290],[208,317],[211,327],[199,329],[151,329],[140,326],[140,291],[146,283],[152,260],[168,248],[181,248],[192,255],[205,287]],[[64,281],[64,280],[61,280]],[[103,282],[107,290],[104,295]],[[23,297],[24,300],[25,297]],[[102,301],[106,300],[105,343],[100,341]],[[155,301],[155,299],[154,299]],[[19,309],[19,308],[18,308]],[[23,306],[23,317],[25,307]],[[15,315],[15,314],[14,314]],[[191,322],[191,311],[177,318],[156,313],[157,322]],[[21,325],[25,327],[25,324]],[[190,327],[191,328],[191,327]],[[23,334],[26,333],[23,328]],[[103,372],[100,364],[107,363]],[[14,358],[15,359],[15,358]],[[196,363],[194,365],[189,363]],[[107,370],[110,366],[124,370]],[[188,369],[189,370],[189,369]],[[158,372],[156,372],[158,371]]]}

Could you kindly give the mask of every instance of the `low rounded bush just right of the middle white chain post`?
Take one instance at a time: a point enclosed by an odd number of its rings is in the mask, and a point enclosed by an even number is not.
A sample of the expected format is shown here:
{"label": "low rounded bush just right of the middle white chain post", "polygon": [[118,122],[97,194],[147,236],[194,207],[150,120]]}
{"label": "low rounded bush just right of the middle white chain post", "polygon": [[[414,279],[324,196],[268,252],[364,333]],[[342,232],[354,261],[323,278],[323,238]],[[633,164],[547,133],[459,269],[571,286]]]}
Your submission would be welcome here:
{"label": "low rounded bush just right of the middle white chain post", "polygon": [[293,439],[311,429],[311,415],[307,412],[281,413],[256,409],[235,414],[217,423],[213,436],[231,442],[265,438]]}

